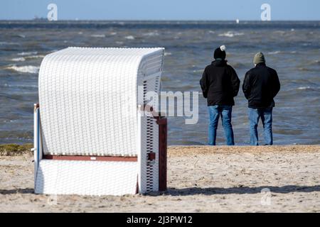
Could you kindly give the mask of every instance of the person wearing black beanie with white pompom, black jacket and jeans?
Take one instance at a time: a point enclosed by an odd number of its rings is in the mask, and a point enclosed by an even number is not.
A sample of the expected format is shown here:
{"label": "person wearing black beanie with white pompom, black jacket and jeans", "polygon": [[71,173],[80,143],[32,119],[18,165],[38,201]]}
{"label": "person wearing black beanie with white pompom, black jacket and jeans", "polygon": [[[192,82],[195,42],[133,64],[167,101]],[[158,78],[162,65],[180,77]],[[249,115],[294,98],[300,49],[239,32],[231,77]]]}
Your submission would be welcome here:
{"label": "person wearing black beanie with white pompom, black jacket and jeans", "polygon": [[225,46],[217,48],[215,61],[208,65],[200,81],[203,96],[208,101],[209,111],[209,145],[215,145],[218,121],[221,116],[227,145],[235,145],[231,114],[238,95],[240,79],[233,67],[225,60]]}

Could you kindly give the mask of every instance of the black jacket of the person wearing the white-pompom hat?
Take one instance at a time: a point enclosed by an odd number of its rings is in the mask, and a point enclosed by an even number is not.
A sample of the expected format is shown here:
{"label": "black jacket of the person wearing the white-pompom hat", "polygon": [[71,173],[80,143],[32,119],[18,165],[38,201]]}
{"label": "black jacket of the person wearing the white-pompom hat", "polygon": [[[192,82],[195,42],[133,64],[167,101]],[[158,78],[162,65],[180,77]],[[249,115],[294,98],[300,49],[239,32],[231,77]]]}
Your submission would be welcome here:
{"label": "black jacket of the person wearing the white-pompom hat", "polygon": [[204,70],[200,85],[208,106],[234,106],[233,98],[238,95],[240,79],[225,60],[215,60]]}

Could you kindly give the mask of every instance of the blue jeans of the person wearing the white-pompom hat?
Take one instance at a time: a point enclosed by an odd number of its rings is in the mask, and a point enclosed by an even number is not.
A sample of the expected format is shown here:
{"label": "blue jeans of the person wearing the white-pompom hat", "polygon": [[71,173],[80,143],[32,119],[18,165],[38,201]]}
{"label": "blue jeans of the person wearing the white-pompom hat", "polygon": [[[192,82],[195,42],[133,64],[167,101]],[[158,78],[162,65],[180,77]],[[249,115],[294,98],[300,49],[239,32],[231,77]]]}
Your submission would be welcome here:
{"label": "blue jeans of the person wearing the white-pompom hat", "polygon": [[233,138],[233,126],[231,124],[231,114],[233,106],[208,106],[209,110],[209,145],[215,145],[215,139],[217,138],[217,128],[219,117],[221,116],[223,128],[225,130],[225,138],[227,145],[235,145]]}

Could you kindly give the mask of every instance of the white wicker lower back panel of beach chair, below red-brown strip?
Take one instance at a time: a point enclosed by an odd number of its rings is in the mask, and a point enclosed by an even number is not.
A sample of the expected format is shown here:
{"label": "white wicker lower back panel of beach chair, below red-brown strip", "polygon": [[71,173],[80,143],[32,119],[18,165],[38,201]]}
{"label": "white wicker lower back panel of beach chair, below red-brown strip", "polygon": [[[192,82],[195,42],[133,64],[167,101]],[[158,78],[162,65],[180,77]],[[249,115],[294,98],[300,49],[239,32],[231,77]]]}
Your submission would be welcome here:
{"label": "white wicker lower back panel of beach chair, below red-brown strip", "polygon": [[41,160],[36,194],[135,194],[137,162]]}

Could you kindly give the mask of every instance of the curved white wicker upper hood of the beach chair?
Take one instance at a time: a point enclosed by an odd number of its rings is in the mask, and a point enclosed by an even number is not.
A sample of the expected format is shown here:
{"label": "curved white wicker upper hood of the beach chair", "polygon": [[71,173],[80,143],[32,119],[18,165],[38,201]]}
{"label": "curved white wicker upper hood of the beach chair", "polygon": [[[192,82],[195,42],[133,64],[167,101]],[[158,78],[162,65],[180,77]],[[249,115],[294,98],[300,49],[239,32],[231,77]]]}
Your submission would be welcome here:
{"label": "curved white wicker upper hood of the beach chair", "polygon": [[39,72],[43,153],[137,156],[137,86],[161,72],[163,55],[163,48],[47,55]]}

